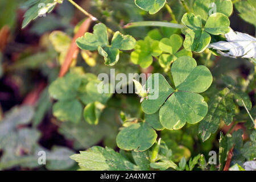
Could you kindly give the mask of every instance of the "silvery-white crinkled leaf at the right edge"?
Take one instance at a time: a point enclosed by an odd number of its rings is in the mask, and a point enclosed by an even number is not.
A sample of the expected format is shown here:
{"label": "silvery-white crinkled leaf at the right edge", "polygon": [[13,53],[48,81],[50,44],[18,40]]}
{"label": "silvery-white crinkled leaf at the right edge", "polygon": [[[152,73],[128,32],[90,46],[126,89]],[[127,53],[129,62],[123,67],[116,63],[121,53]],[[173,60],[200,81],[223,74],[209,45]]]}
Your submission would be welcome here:
{"label": "silvery-white crinkled leaf at the right edge", "polygon": [[256,58],[256,39],[253,36],[230,30],[226,41],[212,43],[209,48],[217,49],[222,56]]}

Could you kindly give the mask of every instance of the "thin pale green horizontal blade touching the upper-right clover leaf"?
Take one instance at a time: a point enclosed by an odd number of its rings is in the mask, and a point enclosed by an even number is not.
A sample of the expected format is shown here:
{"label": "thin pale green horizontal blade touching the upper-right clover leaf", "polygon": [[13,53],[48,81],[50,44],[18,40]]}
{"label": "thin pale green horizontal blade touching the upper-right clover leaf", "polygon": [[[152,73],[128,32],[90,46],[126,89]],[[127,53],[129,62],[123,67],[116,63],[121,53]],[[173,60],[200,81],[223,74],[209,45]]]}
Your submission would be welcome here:
{"label": "thin pale green horizontal blade touching the upper-right clover leaf", "polygon": [[123,28],[146,27],[146,26],[184,28],[184,26],[182,24],[168,23],[168,22],[156,22],[156,21],[143,21],[143,22],[128,23],[125,26],[123,26]]}

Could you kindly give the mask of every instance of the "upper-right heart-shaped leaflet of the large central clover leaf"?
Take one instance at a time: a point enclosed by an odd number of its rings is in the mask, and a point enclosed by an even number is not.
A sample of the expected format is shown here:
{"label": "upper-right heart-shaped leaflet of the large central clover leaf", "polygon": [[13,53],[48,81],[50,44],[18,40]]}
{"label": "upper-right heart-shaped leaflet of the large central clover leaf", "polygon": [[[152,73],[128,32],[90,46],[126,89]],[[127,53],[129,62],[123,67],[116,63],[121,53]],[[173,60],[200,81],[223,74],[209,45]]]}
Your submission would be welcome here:
{"label": "upper-right heart-shaped leaflet of the large central clover leaf", "polygon": [[213,78],[207,67],[196,66],[196,60],[188,56],[180,57],[178,60],[171,68],[177,90],[201,93],[209,88]]}

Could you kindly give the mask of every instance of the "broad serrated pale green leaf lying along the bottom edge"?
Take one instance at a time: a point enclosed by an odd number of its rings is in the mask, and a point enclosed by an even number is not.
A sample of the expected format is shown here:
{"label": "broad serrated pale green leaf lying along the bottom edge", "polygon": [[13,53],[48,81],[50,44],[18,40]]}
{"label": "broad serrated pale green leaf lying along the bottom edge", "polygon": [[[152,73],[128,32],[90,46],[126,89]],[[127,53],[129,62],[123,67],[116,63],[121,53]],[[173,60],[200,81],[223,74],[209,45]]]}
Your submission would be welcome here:
{"label": "broad serrated pale green leaf lying along the bottom edge", "polygon": [[80,151],[80,154],[74,154],[70,158],[79,163],[80,168],[86,171],[131,171],[139,169],[138,166],[108,147],[94,146],[87,151]]}

